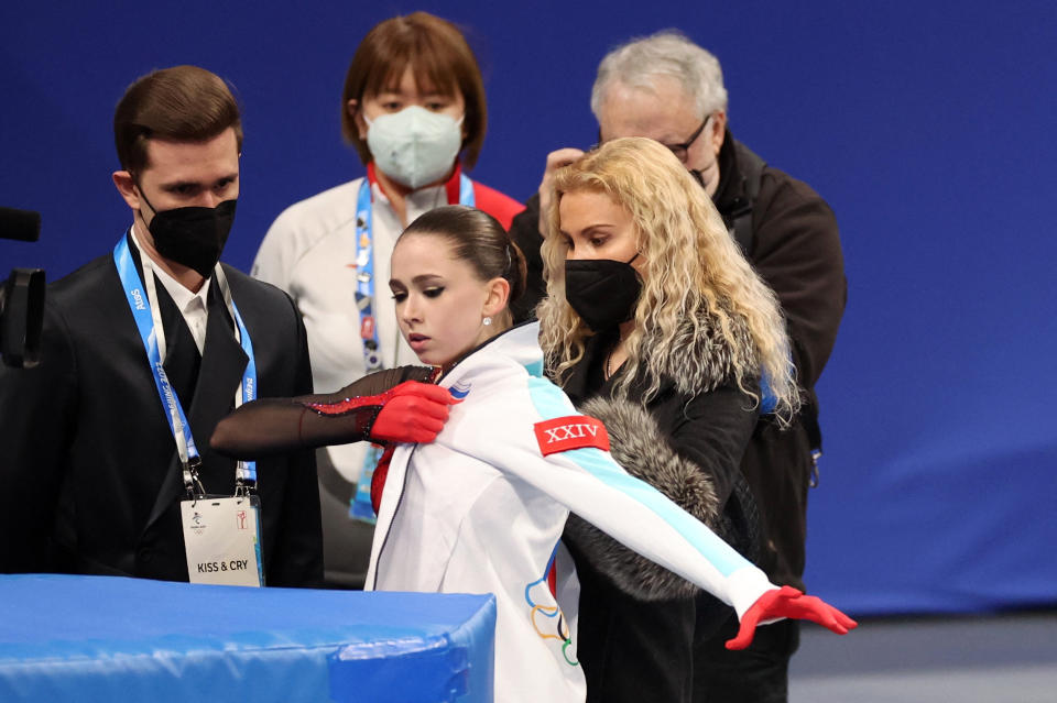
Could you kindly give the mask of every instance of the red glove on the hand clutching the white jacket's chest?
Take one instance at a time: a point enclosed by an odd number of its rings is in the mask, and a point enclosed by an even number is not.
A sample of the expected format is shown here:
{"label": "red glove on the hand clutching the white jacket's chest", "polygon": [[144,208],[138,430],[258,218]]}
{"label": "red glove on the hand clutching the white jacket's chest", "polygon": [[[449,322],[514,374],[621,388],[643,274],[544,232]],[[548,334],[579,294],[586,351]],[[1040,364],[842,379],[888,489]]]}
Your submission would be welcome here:
{"label": "red glove on the hand clutching the white jacket's chest", "polygon": [[382,394],[382,410],[371,439],[389,442],[432,442],[444,429],[451,405],[459,400],[447,388],[405,381]]}

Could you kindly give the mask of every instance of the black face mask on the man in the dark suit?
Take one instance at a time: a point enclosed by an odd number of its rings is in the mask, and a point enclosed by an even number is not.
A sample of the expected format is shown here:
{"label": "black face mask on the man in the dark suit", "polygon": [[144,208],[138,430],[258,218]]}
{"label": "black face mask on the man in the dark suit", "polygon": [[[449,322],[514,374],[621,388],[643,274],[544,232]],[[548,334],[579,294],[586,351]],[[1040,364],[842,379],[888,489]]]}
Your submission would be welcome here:
{"label": "black face mask on the man in the dark suit", "polygon": [[238,200],[225,200],[215,208],[188,207],[159,211],[143,195],[142,188],[140,197],[154,210],[148,229],[154,238],[157,253],[194,268],[206,278],[213,275],[231,232]]}

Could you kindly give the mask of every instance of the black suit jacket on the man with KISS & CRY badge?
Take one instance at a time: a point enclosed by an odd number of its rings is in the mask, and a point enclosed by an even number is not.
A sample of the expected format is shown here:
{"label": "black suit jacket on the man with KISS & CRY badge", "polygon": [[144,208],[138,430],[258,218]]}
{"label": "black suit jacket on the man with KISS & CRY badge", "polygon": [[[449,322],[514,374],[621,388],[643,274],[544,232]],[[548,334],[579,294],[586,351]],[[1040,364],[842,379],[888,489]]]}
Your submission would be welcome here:
{"label": "black suit jacket on the man with KISS & CRY badge", "polygon": [[[310,393],[293,303],[230,266],[225,273],[253,341],[258,395]],[[170,349],[194,348],[175,304],[156,288]],[[210,285],[205,351],[184,410],[211,494],[233,491],[235,463],[210,451],[209,437],[233,407],[246,363]],[[187,580],[175,442],[112,255],[48,286],[42,363],[0,370],[0,571]],[[320,583],[314,454],[259,461],[258,493],[265,582]]]}

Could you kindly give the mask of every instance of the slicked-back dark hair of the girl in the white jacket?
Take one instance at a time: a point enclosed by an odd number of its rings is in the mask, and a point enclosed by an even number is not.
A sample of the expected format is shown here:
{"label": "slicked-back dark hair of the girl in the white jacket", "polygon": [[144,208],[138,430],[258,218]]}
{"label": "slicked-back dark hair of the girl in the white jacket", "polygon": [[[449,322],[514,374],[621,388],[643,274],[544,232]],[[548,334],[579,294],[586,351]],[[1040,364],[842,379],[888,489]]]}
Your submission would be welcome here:
{"label": "slicked-back dark hair of the girl in the white jacket", "polygon": [[455,259],[470,265],[478,278],[505,278],[510,284],[506,323],[511,323],[510,304],[525,292],[525,256],[506,230],[483,210],[465,205],[445,205],[418,216],[401,238],[440,237],[451,243]]}

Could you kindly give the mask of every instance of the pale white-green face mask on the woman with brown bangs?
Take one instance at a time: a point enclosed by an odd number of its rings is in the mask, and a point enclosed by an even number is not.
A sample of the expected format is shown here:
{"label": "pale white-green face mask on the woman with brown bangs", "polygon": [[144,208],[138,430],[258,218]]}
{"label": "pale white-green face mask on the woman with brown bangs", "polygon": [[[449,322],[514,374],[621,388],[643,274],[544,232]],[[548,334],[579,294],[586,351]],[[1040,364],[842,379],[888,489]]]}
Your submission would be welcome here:
{"label": "pale white-green face mask on the woman with brown bangs", "polygon": [[367,121],[367,146],[386,176],[412,190],[444,178],[462,146],[462,118],[417,105]]}

